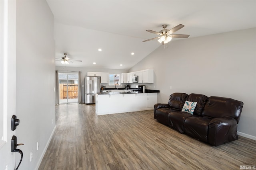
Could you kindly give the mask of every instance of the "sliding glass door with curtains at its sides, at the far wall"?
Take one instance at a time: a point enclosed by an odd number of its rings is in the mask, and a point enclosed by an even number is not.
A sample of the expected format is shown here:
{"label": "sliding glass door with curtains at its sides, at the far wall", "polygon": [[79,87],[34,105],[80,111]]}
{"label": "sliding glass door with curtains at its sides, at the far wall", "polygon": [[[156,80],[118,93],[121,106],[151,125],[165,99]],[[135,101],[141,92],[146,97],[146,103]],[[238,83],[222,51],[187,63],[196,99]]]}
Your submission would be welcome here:
{"label": "sliding glass door with curtains at its sides, at the far wall", "polygon": [[78,72],[59,72],[60,104],[78,102]]}

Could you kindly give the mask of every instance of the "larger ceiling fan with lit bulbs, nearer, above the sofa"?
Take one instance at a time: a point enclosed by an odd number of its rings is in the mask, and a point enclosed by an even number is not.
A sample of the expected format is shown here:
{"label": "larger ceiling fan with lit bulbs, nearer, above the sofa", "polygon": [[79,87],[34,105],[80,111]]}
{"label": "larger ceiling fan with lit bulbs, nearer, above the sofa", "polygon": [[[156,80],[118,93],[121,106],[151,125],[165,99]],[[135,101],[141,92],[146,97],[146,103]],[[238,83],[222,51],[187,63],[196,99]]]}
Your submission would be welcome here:
{"label": "larger ceiling fan with lit bulbs, nearer, above the sofa", "polygon": [[166,44],[166,43],[170,42],[172,40],[172,38],[188,38],[189,37],[189,35],[184,35],[184,34],[172,34],[176,31],[178,31],[179,29],[181,29],[182,27],[184,27],[184,25],[182,25],[182,24],[179,24],[179,25],[177,25],[176,27],[173,27],[170,30],[166,29],[166,27],[167,27],[166,24],[162,25],[162,27],[163,27],[163,29],[159,32],[152,31],[150,29],[146,30],[150,33],[154,33],[154,34],[159,35],[159,37],[147,39],[147,40],[142,41],[142,42],[146,42],[146,41],[150,41],[150,40],[159,38],[158,39],[159,43]]}

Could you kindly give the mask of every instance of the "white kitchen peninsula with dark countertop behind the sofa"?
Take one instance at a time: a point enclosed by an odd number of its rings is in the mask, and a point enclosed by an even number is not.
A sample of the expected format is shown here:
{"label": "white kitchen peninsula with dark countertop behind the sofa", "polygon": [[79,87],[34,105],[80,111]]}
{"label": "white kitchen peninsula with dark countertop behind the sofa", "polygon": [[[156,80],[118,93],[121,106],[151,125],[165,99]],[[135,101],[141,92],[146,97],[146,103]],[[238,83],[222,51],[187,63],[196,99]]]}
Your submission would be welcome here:
{"label": "white kitchen peninsula with dark countertop behind the sofa", "polygon": [[154,109],[159,90],[107,92],[96,94],[96,114],[106,115]]}

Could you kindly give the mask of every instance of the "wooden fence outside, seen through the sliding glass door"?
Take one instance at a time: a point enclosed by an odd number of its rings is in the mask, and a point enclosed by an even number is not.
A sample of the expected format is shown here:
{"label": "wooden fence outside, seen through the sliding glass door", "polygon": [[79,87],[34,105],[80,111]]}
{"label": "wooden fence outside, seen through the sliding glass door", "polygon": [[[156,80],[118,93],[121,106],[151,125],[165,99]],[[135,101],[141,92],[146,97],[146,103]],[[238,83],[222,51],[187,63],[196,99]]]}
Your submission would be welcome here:
{"label": "wooden fence outside, seen through the sliding glass door", "polygon": [[67,95],[67,84],[60,84],[60,99],[78,98],[78,84],[68,84],[68,95]]}

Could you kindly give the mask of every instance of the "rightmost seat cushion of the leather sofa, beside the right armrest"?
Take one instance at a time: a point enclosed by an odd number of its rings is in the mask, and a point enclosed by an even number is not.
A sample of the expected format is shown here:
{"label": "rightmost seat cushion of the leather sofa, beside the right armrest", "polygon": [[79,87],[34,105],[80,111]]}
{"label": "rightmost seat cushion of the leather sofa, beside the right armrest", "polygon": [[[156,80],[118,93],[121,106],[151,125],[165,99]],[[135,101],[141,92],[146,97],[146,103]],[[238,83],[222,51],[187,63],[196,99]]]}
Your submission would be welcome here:
{"label": "rightmost seat cushion of the leather sofa, beside the right armrest", "polygon": [[208,142],[208,124],[212,118],[191,116],[184,122],[184,132],[191,137]]}

